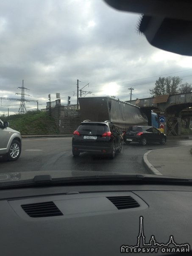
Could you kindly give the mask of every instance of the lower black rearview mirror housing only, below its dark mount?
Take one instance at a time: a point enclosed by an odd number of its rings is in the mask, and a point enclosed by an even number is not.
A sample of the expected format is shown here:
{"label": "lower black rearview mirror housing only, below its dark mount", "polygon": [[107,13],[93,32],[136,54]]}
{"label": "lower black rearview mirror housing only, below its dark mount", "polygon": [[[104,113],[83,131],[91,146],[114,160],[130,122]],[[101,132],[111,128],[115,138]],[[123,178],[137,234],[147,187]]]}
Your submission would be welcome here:
{"label": "lower black rearview mirror housing only, below its dark mount", "polygon": [[138,30],[145,35],[151,45],[159,49],[192,56],[191,20],[149,17],[144,15]]}

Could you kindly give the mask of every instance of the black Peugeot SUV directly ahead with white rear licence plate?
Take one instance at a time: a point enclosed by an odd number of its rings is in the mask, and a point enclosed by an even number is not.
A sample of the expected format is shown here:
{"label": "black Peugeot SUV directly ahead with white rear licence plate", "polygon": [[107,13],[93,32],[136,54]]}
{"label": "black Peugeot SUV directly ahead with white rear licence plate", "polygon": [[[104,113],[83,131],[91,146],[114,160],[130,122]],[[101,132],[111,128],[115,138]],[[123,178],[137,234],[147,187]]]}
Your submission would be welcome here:
{"label": "black Peugeot SUV directly ahead with white rear licence plate", "polygon": [[81,122],[72,137],[72,154],[79,156],[81,152],[92,152],[114,158],[116,151],[122,149],[122,131],[111,121]]}

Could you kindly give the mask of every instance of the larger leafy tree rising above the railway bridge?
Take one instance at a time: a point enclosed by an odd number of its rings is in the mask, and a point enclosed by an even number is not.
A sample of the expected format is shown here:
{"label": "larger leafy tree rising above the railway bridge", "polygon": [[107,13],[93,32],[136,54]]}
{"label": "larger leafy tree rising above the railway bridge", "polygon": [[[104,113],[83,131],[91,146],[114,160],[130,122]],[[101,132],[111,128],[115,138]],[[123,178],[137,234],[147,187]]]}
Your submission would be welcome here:
{"label": "larger leafy tree rising above the railway bridge", "polygon": [[181,81],[182,79],[179,76],[159,77],[156,80],[155,87],[150,89],[150,93],[153,96],[176,94],[178,93],[178,86]]}

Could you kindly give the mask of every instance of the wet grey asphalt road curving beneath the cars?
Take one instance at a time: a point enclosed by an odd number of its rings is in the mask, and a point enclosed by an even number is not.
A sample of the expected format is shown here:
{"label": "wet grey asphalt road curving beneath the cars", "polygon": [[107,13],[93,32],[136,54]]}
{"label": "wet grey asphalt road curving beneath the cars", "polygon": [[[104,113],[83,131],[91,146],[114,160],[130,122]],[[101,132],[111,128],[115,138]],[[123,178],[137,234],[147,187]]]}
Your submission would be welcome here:
{"label": "wet grey asphalt road curving beneath the cars", "polygon": [[[22,140],[22,153],[14,162],[0,157],[0,173],[42,170],[88,170],[119,173],[149,173],[143,164],[143,155],[148,150],[192,145],[192,140],[168,140],[165,145],[139,143],[125,145],[114,159],[95,157],[81,153],[72,156],[72,138],[28,138]],[[163,159],[162,159],[163,161]]]}

